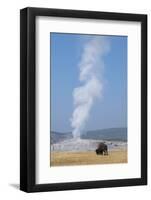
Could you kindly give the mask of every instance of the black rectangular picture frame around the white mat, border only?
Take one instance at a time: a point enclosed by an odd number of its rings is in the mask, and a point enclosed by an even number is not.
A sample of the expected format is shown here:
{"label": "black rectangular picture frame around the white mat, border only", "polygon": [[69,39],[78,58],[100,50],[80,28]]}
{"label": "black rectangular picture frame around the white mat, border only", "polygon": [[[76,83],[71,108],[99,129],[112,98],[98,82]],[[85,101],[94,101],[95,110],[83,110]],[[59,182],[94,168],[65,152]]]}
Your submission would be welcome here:
{"label": "black rectangular picture frame around the white mat, border only", "polygon": [[[36,184],[36,65],[35,19],[37,16],[120,20],[141,23],[141,178],[70,183]],[[44,192],[147,184],[147,15],[24,8],[20,11],[20,190]]]}

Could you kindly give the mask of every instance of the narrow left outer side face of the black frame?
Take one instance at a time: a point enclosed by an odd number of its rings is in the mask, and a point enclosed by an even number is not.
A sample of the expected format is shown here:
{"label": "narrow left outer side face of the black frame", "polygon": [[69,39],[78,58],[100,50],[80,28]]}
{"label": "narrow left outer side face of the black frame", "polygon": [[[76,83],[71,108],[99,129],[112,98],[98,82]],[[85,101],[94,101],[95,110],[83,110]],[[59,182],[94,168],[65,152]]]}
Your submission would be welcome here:
{"label": "narrow left outer side face of the black frame", "polygon": [[27,9],[20,10],[20,190],[27,191]]}

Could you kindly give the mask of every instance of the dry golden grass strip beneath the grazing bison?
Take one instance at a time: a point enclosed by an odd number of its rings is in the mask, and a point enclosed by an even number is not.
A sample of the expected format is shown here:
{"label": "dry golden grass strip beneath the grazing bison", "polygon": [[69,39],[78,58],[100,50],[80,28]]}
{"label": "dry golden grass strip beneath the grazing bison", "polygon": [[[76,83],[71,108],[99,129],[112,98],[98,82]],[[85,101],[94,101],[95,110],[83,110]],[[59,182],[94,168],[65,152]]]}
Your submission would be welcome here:
{"label": "dry golden grass strip beneath the grazing bison", "polygon": [[95,152],[52,152],[50,159],[51,166],[67,165],[88,165],[88,164],[109,164],[126,163],[127,151],[110,151],[109,155],[96,155]]}

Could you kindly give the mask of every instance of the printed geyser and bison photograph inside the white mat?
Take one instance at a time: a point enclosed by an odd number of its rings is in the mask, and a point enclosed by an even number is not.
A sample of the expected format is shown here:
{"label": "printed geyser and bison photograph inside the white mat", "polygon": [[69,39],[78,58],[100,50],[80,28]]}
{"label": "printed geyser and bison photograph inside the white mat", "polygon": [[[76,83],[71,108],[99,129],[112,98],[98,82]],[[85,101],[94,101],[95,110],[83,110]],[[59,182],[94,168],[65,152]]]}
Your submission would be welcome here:
{"label": "printed geyser and bison photograph inside the white mat", "polygon": [[128,162],[127,40],[50,32],[50,167]]}

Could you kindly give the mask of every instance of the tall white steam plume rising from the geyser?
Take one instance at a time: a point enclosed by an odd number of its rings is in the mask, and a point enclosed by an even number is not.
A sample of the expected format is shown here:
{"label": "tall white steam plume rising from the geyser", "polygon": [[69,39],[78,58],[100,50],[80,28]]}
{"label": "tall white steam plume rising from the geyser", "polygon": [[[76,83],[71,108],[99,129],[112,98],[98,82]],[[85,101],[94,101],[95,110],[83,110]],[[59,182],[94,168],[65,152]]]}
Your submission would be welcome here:
{"label": "tall white steam plume rising from the geyser", "polygon": [[89,39],[83,47],[79,63],[81,86],[73,90],[74,111],[71,127],[74,138],[80,138],[94,100],[102,96],[103,56],[109,52],[109,49],[109,42],[104,36],[95,36]]}

